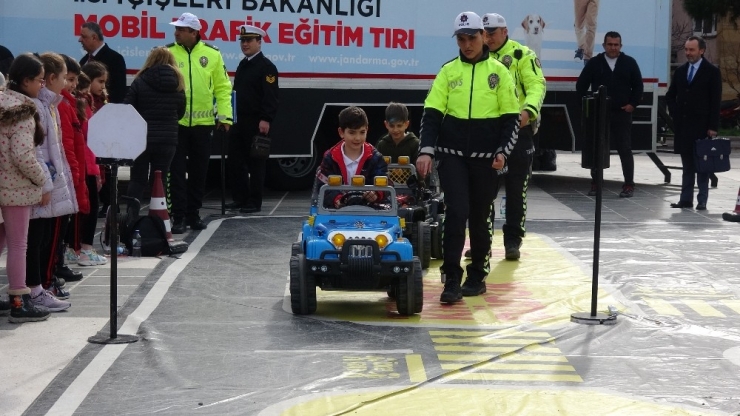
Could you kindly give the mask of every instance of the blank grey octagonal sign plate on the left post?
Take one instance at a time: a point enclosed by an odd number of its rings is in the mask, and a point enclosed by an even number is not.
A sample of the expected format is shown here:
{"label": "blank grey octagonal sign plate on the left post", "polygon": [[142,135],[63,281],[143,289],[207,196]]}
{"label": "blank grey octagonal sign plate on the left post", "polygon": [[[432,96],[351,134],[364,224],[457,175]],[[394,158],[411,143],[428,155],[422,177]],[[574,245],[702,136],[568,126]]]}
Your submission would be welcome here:
{"label": "blank grey octagonal sign plate on the left post", "polygon": [[146,149],[146,121],[129,104],[106,104],[90,118],[87,145],[99,158],[136,159]]}

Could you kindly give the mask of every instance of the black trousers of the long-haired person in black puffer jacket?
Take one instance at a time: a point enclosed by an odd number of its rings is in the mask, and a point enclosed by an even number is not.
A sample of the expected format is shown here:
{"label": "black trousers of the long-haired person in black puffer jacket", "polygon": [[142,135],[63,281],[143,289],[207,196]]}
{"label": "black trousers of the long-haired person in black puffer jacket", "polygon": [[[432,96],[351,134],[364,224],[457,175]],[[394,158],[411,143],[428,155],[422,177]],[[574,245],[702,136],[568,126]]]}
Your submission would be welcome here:
{"label": "black trousers of the long-haired person in black puffer jacket", "polygon": [[158,170],[162,172],[162,183],[164,184],[176,150],[176,144],[147,144],[146,150],[134,160],[134,165],[131,166],[131,181],[128,184],[127,195],[141,202],[146,186],[149,185],[149,189],[152,189],[154,172]]}

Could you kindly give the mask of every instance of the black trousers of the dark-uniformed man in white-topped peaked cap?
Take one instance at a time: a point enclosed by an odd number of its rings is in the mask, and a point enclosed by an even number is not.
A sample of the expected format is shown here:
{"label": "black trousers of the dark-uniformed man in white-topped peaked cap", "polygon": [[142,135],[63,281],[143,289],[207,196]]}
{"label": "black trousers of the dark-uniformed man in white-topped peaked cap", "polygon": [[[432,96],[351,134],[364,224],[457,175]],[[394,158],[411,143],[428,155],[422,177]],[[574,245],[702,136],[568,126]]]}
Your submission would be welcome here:
{"label": "black trousers of the dark-uniformed man in white-topped peaked cap", "polygon": [[229,134],[229,177],[231,197],[242,205],[262,208],[267,160],[249,157],[252,137],[259,132],[259,120],[237,122]]}

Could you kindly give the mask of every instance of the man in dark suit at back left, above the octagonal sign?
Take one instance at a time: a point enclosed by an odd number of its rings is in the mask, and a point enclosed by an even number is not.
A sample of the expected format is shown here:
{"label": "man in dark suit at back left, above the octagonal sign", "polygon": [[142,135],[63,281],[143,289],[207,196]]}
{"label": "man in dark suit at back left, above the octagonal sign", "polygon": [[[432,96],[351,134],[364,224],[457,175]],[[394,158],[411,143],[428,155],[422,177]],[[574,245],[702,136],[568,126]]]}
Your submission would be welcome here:
{"label": "man in dark suit at back left, above the octagonal sign", "polygon": [[80,44],[87,55],[80,59],[80,65],[87,61],[102,62],[108,68],[108,100],[122,103],[126,96],[126,61],[103,40],[100,25],[95,22],[83,23],[80,28]]}

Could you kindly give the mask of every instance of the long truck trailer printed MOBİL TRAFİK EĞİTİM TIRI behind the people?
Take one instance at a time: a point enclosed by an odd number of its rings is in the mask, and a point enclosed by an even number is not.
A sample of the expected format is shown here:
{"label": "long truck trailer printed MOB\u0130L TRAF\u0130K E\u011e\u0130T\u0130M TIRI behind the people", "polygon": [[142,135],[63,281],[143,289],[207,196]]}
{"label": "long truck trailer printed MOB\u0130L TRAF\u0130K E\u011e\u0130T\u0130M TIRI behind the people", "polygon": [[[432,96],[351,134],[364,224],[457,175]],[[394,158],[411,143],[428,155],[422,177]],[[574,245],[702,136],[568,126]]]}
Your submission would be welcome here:
{"label": "long truck trailer printed MOB\u0130L TRAF\u0130K E\u011e\u0130T\u0130M TIRI behind the people", "polygon": [[[383,111],[391,101],[409,106],[410,129],[418,133],[432,80],[458,54],[453,21],[463,11],[501,14],[509,37],[537,52],[547,80],[536,138],[544,149],[581,149],[575,81],[584,60],[578,39],[594,33],[595,55],[603,51],[604,33],[619,32],[622,51],[637,60],[645,87],[633,116],[633,149],[654,156],[658,96],[669,82],[671,1],[596,3],[596,25],[589,28],[571,0],[3,1],[0,45],[16,55],[54,51],[79,59],[85,55],[80,26],[97,22],[105,42],[124,56],[130,82],[151,48],[174,41],[168,23],[190,12],[200,18],[201,37],[221,50],[233,76],[243,58],[239,26],[261,27],[267,33],[262,52],[280,73],[266,181],[273,189],[298,190],[311,185],[324,151],[339,140],[337,115],[348,105],[368,113],[371,142],[385,133]],[[214,137],[212,144],[212,157],[220,157],[222,143]]]}

